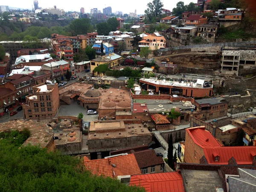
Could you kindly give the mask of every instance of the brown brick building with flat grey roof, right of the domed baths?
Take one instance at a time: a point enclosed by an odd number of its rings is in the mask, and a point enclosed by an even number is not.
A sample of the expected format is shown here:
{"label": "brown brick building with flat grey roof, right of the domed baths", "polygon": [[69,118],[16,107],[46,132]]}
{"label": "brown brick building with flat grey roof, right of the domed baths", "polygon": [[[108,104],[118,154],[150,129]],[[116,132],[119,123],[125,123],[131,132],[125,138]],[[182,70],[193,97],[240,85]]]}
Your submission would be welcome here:
{"label": "brown brick building with flat grey roof, right of the domed baths", "polygon": [[196,99],[194,116],[198,119],[209,120],[227,116],[228,101],[222,97]]}

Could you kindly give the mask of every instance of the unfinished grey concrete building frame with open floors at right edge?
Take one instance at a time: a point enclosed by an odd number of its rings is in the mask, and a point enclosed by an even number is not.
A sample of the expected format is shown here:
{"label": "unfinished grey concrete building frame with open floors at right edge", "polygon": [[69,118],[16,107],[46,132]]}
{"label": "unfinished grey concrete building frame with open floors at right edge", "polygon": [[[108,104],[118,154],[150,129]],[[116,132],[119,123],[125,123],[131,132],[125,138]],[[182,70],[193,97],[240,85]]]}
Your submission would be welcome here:
{"label": "unfinished grey concrete building frame with open floors at right edge", "polygon": [[[239,72],[239,67],[240,71]],[[222,49],[221,73],[243,75],[246,70],[256,68],[256,49],[224,47]]]}

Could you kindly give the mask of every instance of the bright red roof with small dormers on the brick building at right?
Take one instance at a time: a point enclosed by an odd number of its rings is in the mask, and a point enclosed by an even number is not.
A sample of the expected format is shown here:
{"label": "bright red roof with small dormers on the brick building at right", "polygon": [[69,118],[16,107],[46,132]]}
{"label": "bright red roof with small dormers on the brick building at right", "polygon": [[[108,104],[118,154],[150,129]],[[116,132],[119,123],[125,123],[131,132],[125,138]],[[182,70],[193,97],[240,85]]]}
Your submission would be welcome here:
{"label": "bright red roof with small dormers on the brick building at right", "polygon": [[[187,128],[186,131],[194,143],[203,148],[204,155],[209,164],[227,165],[232,157],[234,157],[239,165],[250,165],[253,162],[251,154],[256,154],[256,146],[224,147],[204,127]],[[208,141],[206,140],[207,138]],[[218,161],[215,161],[216,154],[219,156]]]}

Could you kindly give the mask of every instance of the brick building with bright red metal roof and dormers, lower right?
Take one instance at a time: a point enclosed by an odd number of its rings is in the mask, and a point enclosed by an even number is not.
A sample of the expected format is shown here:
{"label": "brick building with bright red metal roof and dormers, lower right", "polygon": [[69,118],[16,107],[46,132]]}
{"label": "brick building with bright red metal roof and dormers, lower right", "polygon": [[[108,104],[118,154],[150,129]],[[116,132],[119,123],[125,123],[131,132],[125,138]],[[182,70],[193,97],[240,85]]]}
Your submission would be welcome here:
{"label": "brick building with bright red metal roof and dormers, lower right", "polygon": [[185,145],[185,163],[252,165],[256,160],[256,146],[224,147],[205,127],[187,128]]}

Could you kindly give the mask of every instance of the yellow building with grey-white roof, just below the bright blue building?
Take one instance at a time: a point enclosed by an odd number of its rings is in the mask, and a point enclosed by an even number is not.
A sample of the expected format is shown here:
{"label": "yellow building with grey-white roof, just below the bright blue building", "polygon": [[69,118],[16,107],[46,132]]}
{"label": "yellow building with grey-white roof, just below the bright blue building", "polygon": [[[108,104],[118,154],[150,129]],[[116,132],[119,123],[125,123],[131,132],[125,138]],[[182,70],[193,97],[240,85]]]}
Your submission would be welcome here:
{"label": "yellow building with grey-white roof, just below the bright blue building", "polygon": [[90,70],[91,73],[93,73],[93,76],[103,76],[104,74],[100,74],[98,72],[94,73],[93,70],[98,67],[101,64],[108,64],[108,67],[114,67],[118,66],[120,63],[122,63],[122,56],[116,55],[114,53],[107,55],[104,55],[99,58],[95,58],[90,61]]}

